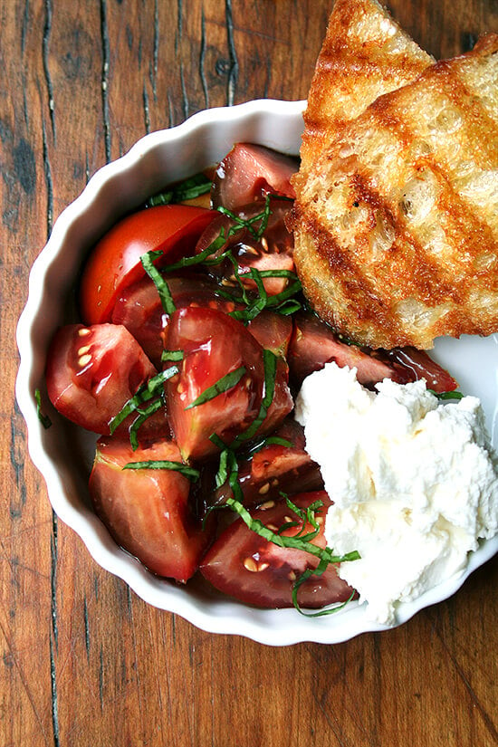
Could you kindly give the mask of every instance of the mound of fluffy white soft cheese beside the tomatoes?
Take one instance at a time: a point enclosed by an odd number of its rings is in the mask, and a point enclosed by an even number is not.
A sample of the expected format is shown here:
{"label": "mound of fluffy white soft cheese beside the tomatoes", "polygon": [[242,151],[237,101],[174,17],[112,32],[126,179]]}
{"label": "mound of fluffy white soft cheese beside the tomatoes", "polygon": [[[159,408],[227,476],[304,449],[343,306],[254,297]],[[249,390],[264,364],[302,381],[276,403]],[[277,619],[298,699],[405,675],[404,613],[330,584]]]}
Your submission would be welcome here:
{"label": "mound of fluffy white soft cheese beside the tomatoes", "polygon": [[370,619],[393,624],[398,601],[462,573],[498,532],[498,459],[476,397],[440,404],[425,381],[377,389],[328,363],[304,380],[295,417],[334,502],[327,542],[361,556],[340,576]]}

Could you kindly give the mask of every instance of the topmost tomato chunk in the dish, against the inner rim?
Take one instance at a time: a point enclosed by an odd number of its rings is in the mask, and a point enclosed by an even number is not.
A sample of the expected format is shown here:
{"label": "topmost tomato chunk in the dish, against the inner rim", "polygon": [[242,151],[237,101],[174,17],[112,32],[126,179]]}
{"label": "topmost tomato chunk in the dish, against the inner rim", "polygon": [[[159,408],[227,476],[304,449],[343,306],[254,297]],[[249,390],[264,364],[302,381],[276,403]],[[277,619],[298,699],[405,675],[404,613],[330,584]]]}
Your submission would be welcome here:
{"label": "topmost tomato chunk in the dish, against the inner rim", "polygon": [[250,143],[236,143],[215,170],[211,202],[236,210],[268,194],[295,197],[292,174],[296,158]]}

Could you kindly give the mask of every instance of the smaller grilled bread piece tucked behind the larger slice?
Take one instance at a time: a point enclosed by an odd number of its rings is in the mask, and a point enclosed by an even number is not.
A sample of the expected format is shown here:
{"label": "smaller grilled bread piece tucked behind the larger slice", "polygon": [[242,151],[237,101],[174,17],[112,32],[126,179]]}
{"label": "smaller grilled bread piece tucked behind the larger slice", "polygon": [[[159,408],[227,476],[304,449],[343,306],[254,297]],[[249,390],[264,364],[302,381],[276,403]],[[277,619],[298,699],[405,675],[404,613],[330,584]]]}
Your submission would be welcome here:
{"label": "smaller grilled bread piece tucked behind the larger slice", "polygon": [[294,186],[299,190],[338,126],[432,62],[377,0],[336,0],[311,81]]}

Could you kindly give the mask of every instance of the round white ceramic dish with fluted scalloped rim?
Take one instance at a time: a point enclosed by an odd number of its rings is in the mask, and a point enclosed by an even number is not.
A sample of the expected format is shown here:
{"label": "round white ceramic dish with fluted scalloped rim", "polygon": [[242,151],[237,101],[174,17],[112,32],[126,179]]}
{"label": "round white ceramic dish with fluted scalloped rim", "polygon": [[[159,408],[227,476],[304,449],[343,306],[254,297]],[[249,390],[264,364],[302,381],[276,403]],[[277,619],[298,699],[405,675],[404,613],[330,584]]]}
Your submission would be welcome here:
{"label": "round white ceramic dish with fluted scalloped rim", "polygon": [[[177,128],[140,139],[123,158],[101,168],[53,226],[50,241],[34,263],[29,298],[17,330],[21,365],[16,396],[27,423],[29,452],[43,474],[53,509],[62,521],[81,536],[102,568],[124,579],[149,604],[177,613],[206,631],[250,637],[272,646],[300,641],[339,643],[385,627],[369,622],[365,606],[357,603],[329,617],[304,618],[294,609],[249,608],[209,594],[195,583],[184,588],[149,574],[117,547],[91,510],[87,478],[94,438],[52,412],[53,427],[43,429],[36,414],[34,391],[40,388],[44,392],[46,350],[56,327],[71,321],[68,300],[91,244],[120,215],[169,182],[215,163],[236,141],[297,153],[303,104],[251,101],[230,109],[202,111]],[[465,392],[482,398],[496,448],[498,336],[486,340],[442,340],[436,345],[435,357],[452,371]],[[497,551],[498,537],[483,542],[469,557],[461,576],[448,579],[414,603],[402,605],[398,622],[406,622],[421,608],[455,593],[464,579]]]}

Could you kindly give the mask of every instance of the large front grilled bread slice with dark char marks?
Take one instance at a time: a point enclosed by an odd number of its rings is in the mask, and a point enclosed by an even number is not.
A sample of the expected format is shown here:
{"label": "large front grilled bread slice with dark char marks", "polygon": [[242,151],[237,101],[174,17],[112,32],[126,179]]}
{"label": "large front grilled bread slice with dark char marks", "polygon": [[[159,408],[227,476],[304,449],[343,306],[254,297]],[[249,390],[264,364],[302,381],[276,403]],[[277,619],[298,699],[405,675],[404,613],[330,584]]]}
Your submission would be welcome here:
{"label": "large front grilled bread slice with dark char marks", "polygon": [[372,348],[498,330],[498,35],[336,129],[300,190],[306,295]]}

